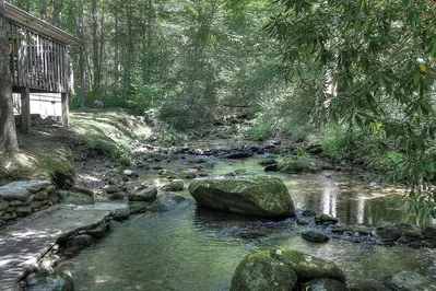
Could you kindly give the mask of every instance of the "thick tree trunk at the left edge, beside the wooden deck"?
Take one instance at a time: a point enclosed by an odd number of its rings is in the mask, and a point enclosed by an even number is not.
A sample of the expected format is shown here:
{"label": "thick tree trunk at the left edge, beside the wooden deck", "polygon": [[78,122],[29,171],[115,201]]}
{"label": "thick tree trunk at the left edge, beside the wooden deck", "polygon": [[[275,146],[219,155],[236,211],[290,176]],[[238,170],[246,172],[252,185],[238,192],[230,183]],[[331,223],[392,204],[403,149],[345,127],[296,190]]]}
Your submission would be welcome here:
{"label": "thick tree trunk at the left edge, beside the wooden deck", "polygon": [[0,0],[0,153],[19,150],[12,105],[12,78],[8,54],[8,22],[4,19],[4,0]]}

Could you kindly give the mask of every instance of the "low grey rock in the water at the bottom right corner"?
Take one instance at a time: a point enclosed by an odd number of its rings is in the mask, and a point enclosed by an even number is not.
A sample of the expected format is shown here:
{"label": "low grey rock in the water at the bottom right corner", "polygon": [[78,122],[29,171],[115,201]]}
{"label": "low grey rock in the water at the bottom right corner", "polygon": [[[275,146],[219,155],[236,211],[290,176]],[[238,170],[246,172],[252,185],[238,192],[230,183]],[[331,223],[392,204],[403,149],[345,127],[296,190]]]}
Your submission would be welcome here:
{"label": "low grey rock in the water at the bottom right corner", "polygon": [[393,276],[386,277],[384,282],[391,290],[436,290],[436,280],[429,279],[413,271],[397,272]]}

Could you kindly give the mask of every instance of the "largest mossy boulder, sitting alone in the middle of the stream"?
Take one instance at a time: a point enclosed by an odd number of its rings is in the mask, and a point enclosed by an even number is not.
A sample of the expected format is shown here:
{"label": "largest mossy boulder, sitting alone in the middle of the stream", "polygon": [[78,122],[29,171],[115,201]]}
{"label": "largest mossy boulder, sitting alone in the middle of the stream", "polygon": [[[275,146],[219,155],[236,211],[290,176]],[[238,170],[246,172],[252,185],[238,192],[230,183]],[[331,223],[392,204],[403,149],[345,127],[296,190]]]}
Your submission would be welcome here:
{"label": "largest mossy boulder, sitting alone in the middle of the stream", "polygon": [[229,178],[193,182],[189,193],[199,205],[264,218],[295,217],[294,202],[279,178]]}

